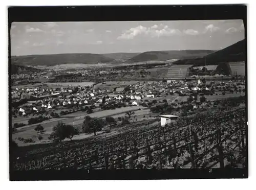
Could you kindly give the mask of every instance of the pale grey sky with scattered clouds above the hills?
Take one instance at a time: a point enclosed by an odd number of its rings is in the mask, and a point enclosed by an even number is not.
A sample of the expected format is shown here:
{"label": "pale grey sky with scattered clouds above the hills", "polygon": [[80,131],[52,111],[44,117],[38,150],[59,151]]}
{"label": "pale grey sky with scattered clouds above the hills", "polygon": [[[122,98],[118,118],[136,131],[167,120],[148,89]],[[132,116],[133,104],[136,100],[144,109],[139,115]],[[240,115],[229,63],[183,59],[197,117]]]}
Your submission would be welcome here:
{"label": "pale grey sky with scattered clouds above the hills", "polygon": [[11,54],[220,50],[242,39],[243,20],[13,22]]}

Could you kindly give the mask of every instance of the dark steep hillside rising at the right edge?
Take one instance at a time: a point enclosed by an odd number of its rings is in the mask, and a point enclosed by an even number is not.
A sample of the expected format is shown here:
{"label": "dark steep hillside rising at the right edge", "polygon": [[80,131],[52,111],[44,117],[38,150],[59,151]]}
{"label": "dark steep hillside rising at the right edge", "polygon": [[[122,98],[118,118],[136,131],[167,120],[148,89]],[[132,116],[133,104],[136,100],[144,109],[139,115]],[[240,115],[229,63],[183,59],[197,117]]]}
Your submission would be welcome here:
{"label": "dark steep hillside rising at the right edge", "polygon": [[220,64],[224,62],[245,61],[245,40],[234,43],[223,50],[219,50],[202,58],[184,59],[174,62],[175,64],[194,64],[196,66]]}

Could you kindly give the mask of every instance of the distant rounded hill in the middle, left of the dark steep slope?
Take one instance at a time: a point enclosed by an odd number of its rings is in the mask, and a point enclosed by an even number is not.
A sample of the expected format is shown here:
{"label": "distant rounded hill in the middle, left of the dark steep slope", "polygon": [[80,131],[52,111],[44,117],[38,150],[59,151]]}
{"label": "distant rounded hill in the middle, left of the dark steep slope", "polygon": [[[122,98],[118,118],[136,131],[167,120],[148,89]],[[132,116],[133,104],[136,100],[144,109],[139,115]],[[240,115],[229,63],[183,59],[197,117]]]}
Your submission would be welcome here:
{"label": "distant rounded hill in the middle, left of the dark steep slope", "polygon": [[181,51],[155,51],[155,52],[144,52],[141,53],[125,63],[134,63],[150,60],[166,61],[172,59],[187,59],[187,58],[197,58],[208,55],[214,51],[211,50],[181,50]]}

